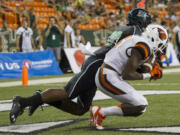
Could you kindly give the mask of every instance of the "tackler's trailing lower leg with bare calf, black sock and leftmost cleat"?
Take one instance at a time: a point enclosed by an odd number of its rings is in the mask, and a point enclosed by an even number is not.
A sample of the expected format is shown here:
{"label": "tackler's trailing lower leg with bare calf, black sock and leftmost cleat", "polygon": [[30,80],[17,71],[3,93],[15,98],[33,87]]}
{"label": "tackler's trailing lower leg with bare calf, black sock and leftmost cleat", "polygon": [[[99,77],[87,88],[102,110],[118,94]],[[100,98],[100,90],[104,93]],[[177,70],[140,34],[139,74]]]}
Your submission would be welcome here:
{"label": "tackler's trailing lower leg with bare calf, black sock and leftmost cleat", "polygon": [[27,106],[30,107],[29,115],[32,115],[38,106],[43,103],[61,101],[67,98],[66,91],[62,89],[48,89],[27,98],[17,96],[13,99],[13,105],[10,110],[10,121],[11,123],[15,123],[17,117],[22,114],[24,108]]}

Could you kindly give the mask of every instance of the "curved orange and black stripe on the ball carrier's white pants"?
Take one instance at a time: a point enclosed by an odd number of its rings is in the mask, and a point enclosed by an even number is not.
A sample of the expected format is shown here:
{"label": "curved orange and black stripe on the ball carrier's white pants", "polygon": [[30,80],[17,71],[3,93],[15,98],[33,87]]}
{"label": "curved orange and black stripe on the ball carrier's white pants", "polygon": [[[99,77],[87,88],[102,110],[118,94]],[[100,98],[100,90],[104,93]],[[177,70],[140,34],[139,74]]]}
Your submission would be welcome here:
{"label": "curved orange and black stripe on the ball carrier's white pants", "polygon": [[122,95],[125,94],[125,92],[119,90],[118,88],[116,88],[115,86],[113,86],[112,84],[110,84],[110,82],[107,81],[106,76],[103,74],[103,68],[101,67],[100,69],[100,75],[99,75],[99,80],[101,85],[108,90],[109,92],[111,92],[112,94],[115,95]]}

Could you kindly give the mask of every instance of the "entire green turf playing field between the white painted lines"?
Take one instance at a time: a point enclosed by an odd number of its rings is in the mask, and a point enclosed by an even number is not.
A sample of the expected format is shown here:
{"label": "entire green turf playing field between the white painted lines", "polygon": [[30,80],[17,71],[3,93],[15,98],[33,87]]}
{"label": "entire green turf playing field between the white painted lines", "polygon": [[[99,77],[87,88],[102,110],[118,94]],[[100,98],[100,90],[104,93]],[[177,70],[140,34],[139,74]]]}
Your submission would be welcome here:
{"label": "entire green turf playing field between the white painted lines", "polygon": [[[9,80],[8,80],[9,81]],[[131,81],[129,82],[136,89],[139,90],[180,90],[180,73],[173,73],[164,75],[161,80],[157,81]],[[14,95],[30,96],[35,89],[58,88],[63,87],[62,84],[45,84],[35,86],[17,86],[0,88],[0,100],[11,99]],[[168,127],[180,126],[180,94],[172,95],[151,95],[146,96],[149,102],[147,111],[140,117],[107,117],[103,125],[106,130],[97,131],[89,127],[89,113],[83,116],[73,116],[64,113],[53,107],[44,107],[44,111],[38,109],[33,116],[25,113],[18,118],[16,124],[27,124],[36,122],[60,121],[60,120],[81,120],[73,124],[59,126],[53,129],[37,133],[38,135],[158,135],[160,133],[146,133],[146,132],[120,132],[116,131],[119,128],[131,127]],[[93,105],[112,106],[118,105],[119,102],[115,100],[94,101]],[[85,120],[84,120],[85,119]],[[9,112],[0,112],[0,126],[7,126],[9,123]],[[0,133],[7,135],[5,133]],[[161,133],[162,135],[163,133]],[[12,135],[12,134],[11,134]]]}

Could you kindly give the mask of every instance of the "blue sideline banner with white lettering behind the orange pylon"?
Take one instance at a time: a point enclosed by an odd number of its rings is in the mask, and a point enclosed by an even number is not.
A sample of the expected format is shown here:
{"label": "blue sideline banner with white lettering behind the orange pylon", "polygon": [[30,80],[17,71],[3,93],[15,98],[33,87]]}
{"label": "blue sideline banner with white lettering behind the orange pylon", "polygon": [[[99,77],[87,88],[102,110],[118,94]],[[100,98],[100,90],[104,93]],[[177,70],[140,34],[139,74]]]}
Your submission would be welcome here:
{"label": "blue sideline banner with white lettering behind the orange pylon", "polygon": [[0,53],[0,79],[21,78],[22,66],[29,77],[63,74],[52,50],[31,53]]}

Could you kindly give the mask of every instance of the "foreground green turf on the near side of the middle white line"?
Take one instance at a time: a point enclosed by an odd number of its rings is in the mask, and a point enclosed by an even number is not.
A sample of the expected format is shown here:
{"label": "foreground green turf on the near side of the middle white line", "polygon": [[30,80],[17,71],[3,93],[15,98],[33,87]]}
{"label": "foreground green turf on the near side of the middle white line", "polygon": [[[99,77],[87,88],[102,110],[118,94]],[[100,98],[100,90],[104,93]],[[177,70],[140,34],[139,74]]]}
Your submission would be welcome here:
{"label": "foreground green turf on the near side of the middle white line", "polygon": [[[154,126],[172,126],[172,125],[180,125],[180,107],[178,107],[178,103],[180,102],[179,95],[157,95],[157,96],[147,96],[149,101],[149,106],[147,107],[147,111],[140,117],[118,117],[112,116],[107,117],[103,125],[106,129],[110,128],[128,128],[128,127],[154,127]],[[101,106],[112,106],[119,104],[115,100],[106,100],[106,101],[96,101],[93,102],[93,105],[101,105]],[[48,117],[47,117],[48,116]],[[8,112],[0,113],[0,125],[9,125],[8,120]],[[35,122],[44,122],[44,121],[58,121],[58,120],[67,120],[67,119],[81,119],[81,118],[89,118],[89,114],[85,115],[73,116],[71,114],[64,113],[60,110],[57,110],[53,107],[45,107],[44,111],[40,109],[35,112],[32,117],[27,116],[27,111],[18,118],[17,124],[24,123],[35,123]],[[72,124],[66,127],[55,128],[46,132],[40,133],[40,135],[46,134],[58,134],[60,135],[88,135],[88,134],[125,134],[128,135],[130,133],[123,132],[115,132],[115,131],[96,131],[94,129],[89,128],[88,121],[82,121],[76,124]],[[136,135],[139,133],[132,133],[132,135]]]}

